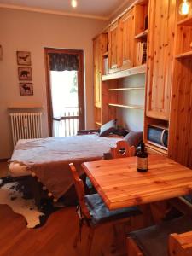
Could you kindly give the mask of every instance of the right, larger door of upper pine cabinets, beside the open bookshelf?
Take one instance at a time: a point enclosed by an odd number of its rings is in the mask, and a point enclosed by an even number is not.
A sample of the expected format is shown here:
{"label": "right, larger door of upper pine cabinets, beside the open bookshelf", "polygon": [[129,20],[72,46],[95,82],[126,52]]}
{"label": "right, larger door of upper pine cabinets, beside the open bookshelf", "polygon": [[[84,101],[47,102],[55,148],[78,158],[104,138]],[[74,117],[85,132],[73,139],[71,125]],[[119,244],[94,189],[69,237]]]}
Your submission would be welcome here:
{"label": "right, larger door of upper pine cabinets, beside the open bookshelf", "polygon": [[131,9],[119,20],[119,69],[133,67],[134,59],[134,12]]}

